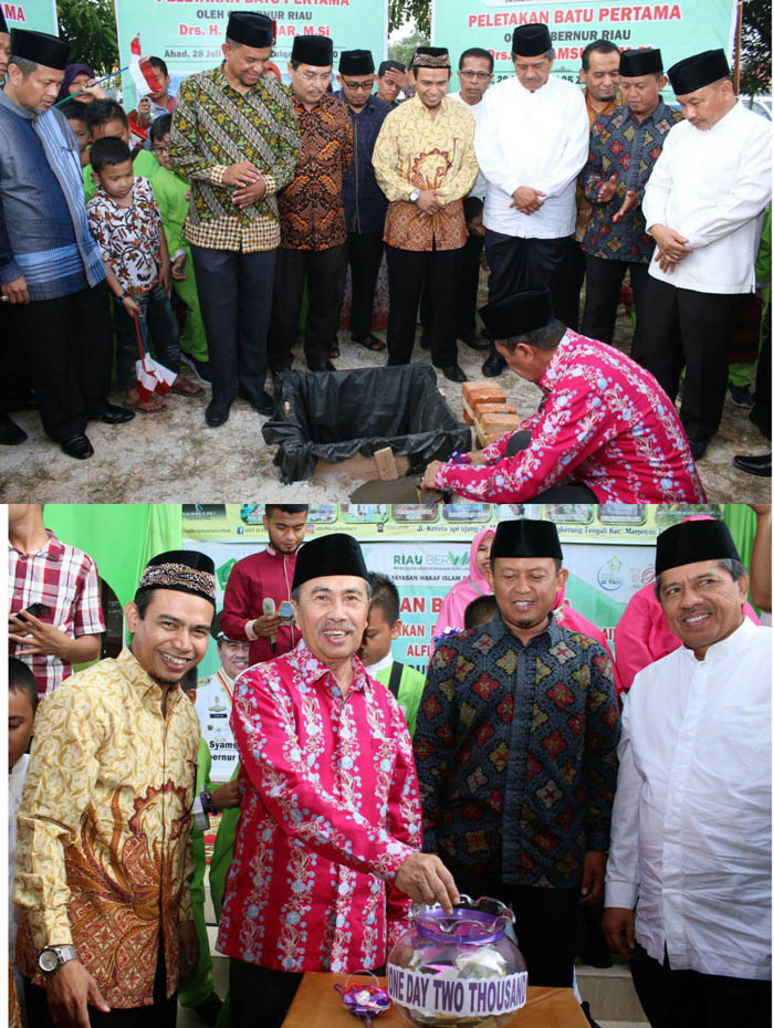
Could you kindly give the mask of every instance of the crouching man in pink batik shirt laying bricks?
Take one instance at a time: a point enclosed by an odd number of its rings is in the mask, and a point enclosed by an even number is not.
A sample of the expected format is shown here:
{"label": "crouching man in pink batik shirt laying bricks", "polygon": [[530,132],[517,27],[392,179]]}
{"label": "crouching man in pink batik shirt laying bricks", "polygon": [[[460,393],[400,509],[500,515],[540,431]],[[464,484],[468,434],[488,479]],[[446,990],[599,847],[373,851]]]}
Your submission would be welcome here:
{"label": "crouching man in pink batik shirt laying bricks", "polygon": [[512,503],[704,503],[677,411],[620,350],[556,321],[547,290],[489,304],[481,316],[511,370],[545,398],[519,432],[464,462],[433,461],[422,485]]}

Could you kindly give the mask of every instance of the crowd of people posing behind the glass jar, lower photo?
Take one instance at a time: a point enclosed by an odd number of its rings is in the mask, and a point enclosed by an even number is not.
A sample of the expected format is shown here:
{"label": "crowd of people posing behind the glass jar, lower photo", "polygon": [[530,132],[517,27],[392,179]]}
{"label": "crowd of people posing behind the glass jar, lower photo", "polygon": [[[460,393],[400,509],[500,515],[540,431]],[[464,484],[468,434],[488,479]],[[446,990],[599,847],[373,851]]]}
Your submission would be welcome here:
{"label": "crowd of people posing behind the glass jar, lower photo", "polygon": [[[13,1028],[19,1000],[29,1028],[168,1028],[178,999],[280,1028],[304,972],[378,973],[410,901],[450,913],[460,894],[514,911],[531,985],[574,986],[583,920],[595,963],[630,962],[653,1028],[766,1024],[771,629],[725,524],[660,533],[614,658],[566,598],[556,526],[501,521],[423,675],[394,657],[399,591],[357,542],[304,542],[307,508],[266,504],[269,545],[233,565],[221,611],[209,556],[158,554],[128,644],[53,681],[41,621],[92,640],[98,618],[41,610],[64,594],[44,569],[83,567],[61,601],[79,611],[93,562],[39,507],[10,515]],[[770,622],[771,506],[755,516]],[[197,688],[210,638],[221,667]],[[215,775],[217,717],[234,746]],[[226,1001],[203,914],[216,814]]]}

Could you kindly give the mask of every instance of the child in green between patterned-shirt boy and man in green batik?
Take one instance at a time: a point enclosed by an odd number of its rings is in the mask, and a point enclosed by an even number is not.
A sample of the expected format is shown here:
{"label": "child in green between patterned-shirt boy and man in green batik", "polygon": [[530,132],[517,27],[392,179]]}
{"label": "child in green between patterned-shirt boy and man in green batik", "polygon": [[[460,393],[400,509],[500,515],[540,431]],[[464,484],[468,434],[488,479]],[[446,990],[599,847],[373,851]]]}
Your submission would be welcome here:
{"label": "child in green between patterned-shirt boy and man in green batik", "polygon": [[199,381],[209,385],[207,334],[196,292],[191,251],[182,238],[182,223],[188,217],[190,183],[182,175],[172,171],[169,164],[171,124],[172,116],[163,114],[150,126],[153,153],[158,161],[153,180],[154,192],[172,261],[172,289],[186,306],[186,325],[180,336],[181,356]]}

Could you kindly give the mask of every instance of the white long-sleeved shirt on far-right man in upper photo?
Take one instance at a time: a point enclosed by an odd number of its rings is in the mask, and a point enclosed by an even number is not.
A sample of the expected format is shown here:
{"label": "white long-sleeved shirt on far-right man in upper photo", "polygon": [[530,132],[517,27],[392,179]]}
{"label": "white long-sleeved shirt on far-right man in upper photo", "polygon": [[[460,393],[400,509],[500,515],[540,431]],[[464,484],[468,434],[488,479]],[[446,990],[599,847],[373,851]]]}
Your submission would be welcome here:
{"label": "white long-sleeved shirt on far-right man in upper photo", "polygon": [[674,125],[645,187],[642,211],[648,231],[653,224],[674,229],[693,253],[671,273],[653,254],[650,274],[699,293],[752,292],[771,198],[771,122],[736,102],[712,128]]}

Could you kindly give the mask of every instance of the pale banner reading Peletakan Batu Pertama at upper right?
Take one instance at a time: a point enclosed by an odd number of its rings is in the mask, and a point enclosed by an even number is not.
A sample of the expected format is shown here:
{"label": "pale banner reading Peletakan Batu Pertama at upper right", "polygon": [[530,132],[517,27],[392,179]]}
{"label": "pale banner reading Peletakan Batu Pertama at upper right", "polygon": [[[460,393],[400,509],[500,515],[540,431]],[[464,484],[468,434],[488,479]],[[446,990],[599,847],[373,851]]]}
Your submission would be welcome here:
{"label": "pale banner reading Peletakan Batu Pertama at upper right", "polygon": [[[513,75],[513,30],[530,22],[548,25],[556,52],[552,73],[579,83],[580,53],[595,39],[620,50],[658,48],[665,69],[702,50],[725,50],[733,60],[735,0],[680,0],[679,3],[627,3],[619,0],[433,0],[432,41],[448,46],[452,66],[469,46],[494,57],[494,80]],[[454,88],[458,88],[454,85]],[[667,86],[663,97],[674,102]]]}

